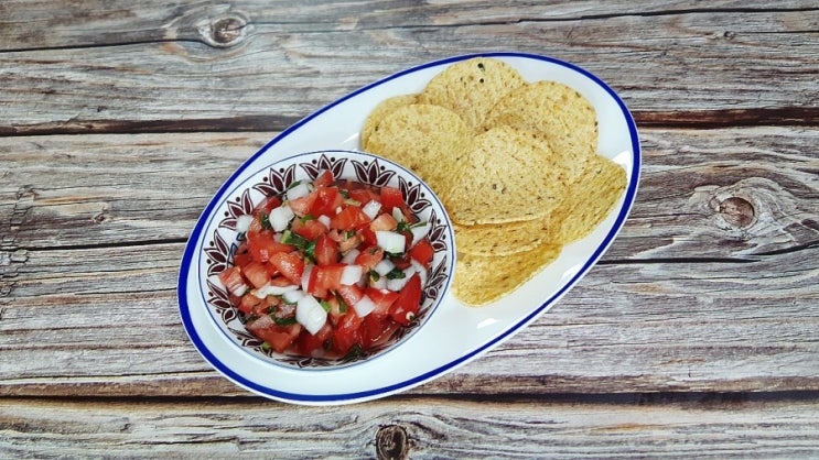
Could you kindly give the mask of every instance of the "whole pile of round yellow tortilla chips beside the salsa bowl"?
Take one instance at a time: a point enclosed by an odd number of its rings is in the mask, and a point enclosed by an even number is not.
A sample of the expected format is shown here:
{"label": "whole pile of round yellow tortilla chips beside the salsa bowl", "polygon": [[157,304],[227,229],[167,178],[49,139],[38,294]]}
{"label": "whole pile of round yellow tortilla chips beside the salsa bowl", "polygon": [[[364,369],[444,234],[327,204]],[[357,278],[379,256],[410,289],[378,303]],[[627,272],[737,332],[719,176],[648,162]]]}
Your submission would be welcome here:
{"label": "whole pile of round yellow tortilla chips beside the salsa bowl", "polygon": [[382,101],[362,147],[412,169],[454,223],[454,294],[486,305],[588,236],[626,186],[596,153],[597,117],[578,91],[526,81],[510,65],[472,58],[416,95]]}

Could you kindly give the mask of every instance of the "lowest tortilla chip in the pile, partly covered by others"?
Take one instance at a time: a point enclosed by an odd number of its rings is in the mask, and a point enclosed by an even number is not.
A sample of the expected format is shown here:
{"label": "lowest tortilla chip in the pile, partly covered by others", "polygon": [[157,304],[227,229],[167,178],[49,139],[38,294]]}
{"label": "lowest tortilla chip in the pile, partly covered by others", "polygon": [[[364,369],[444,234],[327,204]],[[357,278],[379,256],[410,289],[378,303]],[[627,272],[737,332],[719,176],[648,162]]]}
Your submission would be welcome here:
{"label": "lowest tortilla chip in the pile, partly covered by others", "polygon": [[547,243],[504,256],[457,255],[453,294],[464,304],[483,306],[517,289],[560,255],[561,247]]}

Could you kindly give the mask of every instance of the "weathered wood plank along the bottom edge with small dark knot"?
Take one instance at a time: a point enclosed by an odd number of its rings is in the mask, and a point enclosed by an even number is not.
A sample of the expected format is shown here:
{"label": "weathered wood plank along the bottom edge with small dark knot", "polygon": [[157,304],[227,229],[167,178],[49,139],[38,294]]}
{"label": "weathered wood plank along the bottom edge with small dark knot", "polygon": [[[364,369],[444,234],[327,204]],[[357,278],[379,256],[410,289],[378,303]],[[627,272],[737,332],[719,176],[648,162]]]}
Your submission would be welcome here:
{"label": "weathered wood plank along the bottom edge with small dark knot", "polygon": [[661,404],[391,398],[332,408],[246,398],[0,399],[0,454],[793,459],[819,453],[817,410],[802,398],[710,396]]}

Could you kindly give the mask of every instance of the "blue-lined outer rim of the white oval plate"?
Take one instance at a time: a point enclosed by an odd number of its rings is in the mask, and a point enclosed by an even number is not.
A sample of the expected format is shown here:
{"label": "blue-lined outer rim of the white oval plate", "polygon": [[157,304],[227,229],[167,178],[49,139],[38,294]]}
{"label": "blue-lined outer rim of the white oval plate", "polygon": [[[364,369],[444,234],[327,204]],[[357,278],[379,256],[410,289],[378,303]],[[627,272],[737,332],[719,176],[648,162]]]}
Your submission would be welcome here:
{"label": "blue-lined outer rim of the white oval plate", "polygon": [[379,397],[379,396],[387,396],[387,395],[397,393],[402,390],[408,390],[408,388],[418,386],[438,375],[449,372],[460,366],[461,364],[464,364],[471,361],[473,358],[476,358],[479,354],[488,351],[496,343],[499,343],[506,340],[507,338],[516,333],[518,330],[520,330],[524,326],[534,321],[541,314],[543,314],[549,307],[551,307],[551,305],[558,298],[560,298],[563,294],[565,294],[565,292],[571,289],[574,286],[574,284],[576,284],[576,282],[583,275],[588,273],[591,266],[597,262],[597,260],[603,255],[605,250],[608,248],[608,245],[614,240],[615,236],[619,232],[621,228],[625,223],[625,220],[631,211],[631,208],[634,204],[634,200],[637,194],[637,185],[639,182],[639,172],[640,172],[640,144],[639,144],[639,136],[637,133],[637,127],[625,102],[623,102],[623,100],[617,96],[617,94],[611,87],[608,87],[608,85],[606,85],[603,80],[597,78],[595,75],[593,75],[592,73],[576,65],[569,64],[560,59],[556,59],[556,58],[542,56],[542,55],[537,55],[537,54],[528,54],[528,53],[493,52],[493,53],[475,53],[475,54],[464,54],[464,55],[453,56],[453,57],[449,57],[445,59],[439,59],[439,61],[434,61],[434,62],[422,64],[416,67],[408,68],[406,70],[394,74],[389,77],[377,80],[368,86],[359,88],[358,90],[344,96],[343,98],[323,107],[322,109],[300,120],[295,124],[282,131],[278,136],[272,139],[263,147],[257,151],[237,171],[235,171],[230,175],[230,177],[223,184],[223,186],[216,193],[214,198],[208,202],[207,207],[204,209],[202,216],[207,216],[214,210],[214,208],[218,205],[220,198],[224,196],[226,189],[233,184],[233,182],[237,178],[237,176],[239,176],[248,167],[248,165],[254,160],[262,155],[272,145],[288,138],[293,131],[300,129],[302,125],[308,123],[310,120],[319,117],[320,114],[326,112],[327,110],[341,105],[342,102],[351,98],[354,98],[363,92],[366,92],[373,88],[381,86],[399,77],[413,74],[413,73],[417,73],[425,68],[435,67],[435,66],[444,66],[444,65],[449,65],[452,63],[456,63],[460,61],[470,59],[474,57],[513,57],[513,58],[518,57],[518,58],[527,58],[527,59],[534,59],[534,61],[542,61],[546,63],[565,67],[570,70],[573,70],[589,78],[596,86],[605,90],[607,95],[616,102],[619,111],[622,112],[621,114],[624,118],[628,127],[628,135],[631,140],[632,172],[631,172],[631,176],[628,177],[628,185],[624,194],[623,205],[619,208],[619,212],[617,213],[611,230],[605,234],[604,239],[597,245],[597,248],[592,252],[591,256],[583,263],[582,267],[571,276],[569,282],[567,282],[560,289],[558,289],[551,296],[549,296],[540,306],[532,309],[528,315],[524,316],[513,326],[505,329],[500,335],[484,342],[476,349],[471,350],[470,352],[463,355],[460,355],[459,358],[453,359],[452,361],[443,365],[439,365],[428,372],[421,373],[411,379],[407,379],[407,380],[403,380],[401,382],[398,382],[391,385],[386,385],[386,386],[367,390],[367,391],[360,391],[360,392],[335,393],[335,394],[302,394],[302,393],[284,392],[284,391],[280,391],[273,387],[260,385],[236,373],[235,371],[233,371],[228,365],[219,361],[219,359],[217,359],[217,357],[215,357],[208,350],[208,348],[202,341],[202,338],[197,333],[196,329],[194,328],[193,320],[192,320],[191,313],[190,313],[191,304],[188,303],[188,299],[187,299],[186,288],[187,288],[187,280],[190,276],[190,272],[191,270],[195,269],[195,266],[193,266],[192,264],[192,261],[194,260],[194,255],[195,255],[194,252],[197,247],[196,242],[200,240],[204,231],[205,219],[200,218],[188,238],[187,244],[185,245],[185,250],[182,256],[179,283],[177,283],[177,296],[179,296],[179,304],[180,304],[180,315],[182,317],[183,326],[191,341],[194,343],[198,352],[203,355],[203,358],[205,358],[205,360],[208,361],[208,363],[212,366],[214,366],[223,375],[234,381],[239,386],[243,386],[255,393],[266,395],[268,397],[282,401],[282,402],[301,403],[301,404],[322,404],[322,403],[323,404],[327,404],[327,403],[348,404],[348,403],[355,403],[359,401],[367,401],[367,399],[371,399],[371,398]]}

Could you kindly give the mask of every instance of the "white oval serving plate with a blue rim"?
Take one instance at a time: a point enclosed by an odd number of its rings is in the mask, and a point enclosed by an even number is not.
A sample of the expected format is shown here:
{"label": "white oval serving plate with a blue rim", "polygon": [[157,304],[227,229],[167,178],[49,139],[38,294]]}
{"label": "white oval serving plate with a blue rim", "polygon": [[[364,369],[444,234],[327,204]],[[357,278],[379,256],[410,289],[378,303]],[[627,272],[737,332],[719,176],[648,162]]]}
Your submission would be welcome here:
{"label": "white oval serving plate with a blue rim", "polygon": [[[626,169],[626,191],[595,230],[563,248],[560,256],[525,285],[479,308],[449,295],[423,328],[380,359],[327,370],[292,369],[265,362],[228,343],[200,289],[197,248],[205,222],[237,184],[278,158],[319,150],[358,150],[358,133],[384,99],[420,92],[449,65],[478,56],[505,61],[529,81],[563,83],[586,97],[597,112],[599,150]],[[192,342],[218,372],[259,395],[295,404],[364,402],[409,390],[443,375],[507,340],[554,305],[603,255],[625,223],[637,191],[640,147],[625,103],[602,80],[574,65],[540,55],[485,53],[456,56],[398,73],[364,87],[301,120],[245,162],[219,188],[191,233],[179,278],[182,321]]]}

